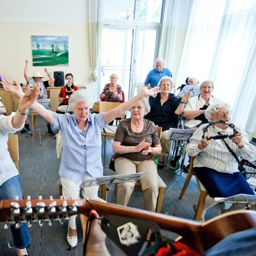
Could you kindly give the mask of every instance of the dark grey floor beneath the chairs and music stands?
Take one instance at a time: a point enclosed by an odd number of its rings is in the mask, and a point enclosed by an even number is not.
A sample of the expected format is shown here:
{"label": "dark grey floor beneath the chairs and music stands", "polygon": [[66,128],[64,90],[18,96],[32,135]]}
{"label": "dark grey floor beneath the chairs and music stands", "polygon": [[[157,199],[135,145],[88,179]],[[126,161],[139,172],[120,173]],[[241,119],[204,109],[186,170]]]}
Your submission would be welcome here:
{"label": "dark grey floor beneath the chairs and music stands", "polygon": [[[41,128],[40,134],[38,130],[39,127]],[[54,130],[54,134],[56,133],[57,130]],[[49,198],[50,196],[53,196],[53,198],[59,198],[59,187],[57,186],[57,182],[59,179],[58,169],[60,159],[57,158],[56,141],[54,137],[47,134],[45,120],[42,117],[36,117],[35,132],[33,135],[30,135],[29,133],[18,133],[18,137],[20,157],[19,169],[25,197],[30,195],[31,199],[36,199],[39,195],[41,195],[42,198],[45,199]],[[102,140],[102,157],[104,149],[103,143],[104,141]],[[107,162],[109,162],[110,157],[113,154],[111,143],[113,143],[113,141],[108,139],[106,140]],[[114,171],[107,168],[105,168],[104,174],[115,175]],[[182,177],[179,177],[179,171],[174,173],[174,171],[170,171],[169,167],[158,170],[158,174],[166,183],[166,191],[170,186],[172,186],[171,189],[163,197],[161,213],[173,215],[175,217],[193,219],[193,204],[197,203],[199,196],[198,186],[190,182],[183,199],[179,199],[179,194],[181,193],[182,186],[185,181],[185,175],[182,174]],[[195,182],[194,177],[193,181]],[[107,201],[114,203],[114,198],[114,185],[109,185]],[[134,191],[128,206],[137,209],[143,209],[142,191]],[[207,210],[205,217],[206,220],[220,214],[222,207],[223,204],[219,204]],[[3,229],[4,225],[5,223],[0,223],[0,256],[14,256],[15,249],[9,248],[7,243],[7,238],[10,238],[10,230]],[[63,225],[60,225],[58,222],[54,222],[52,226],[49,226],[45,223],[42,227],[34,224],[29,229],[31,235],[31,244],[28,249],[30,256],[81,256],[83,250],[82,244],[79,244],[77,247],[69,250],[70,247],[66,241],[67,225],[67,221],[64,221]],[[77,218],[77,230],[79,243],[82,242],[82,228],[79,218]],[[171,233],[170,231],[162,230],[162,233],[170,238],[178,237],[177,234]],[[126,255],[109,238],[107,238],[106,243],[111,255]]]}

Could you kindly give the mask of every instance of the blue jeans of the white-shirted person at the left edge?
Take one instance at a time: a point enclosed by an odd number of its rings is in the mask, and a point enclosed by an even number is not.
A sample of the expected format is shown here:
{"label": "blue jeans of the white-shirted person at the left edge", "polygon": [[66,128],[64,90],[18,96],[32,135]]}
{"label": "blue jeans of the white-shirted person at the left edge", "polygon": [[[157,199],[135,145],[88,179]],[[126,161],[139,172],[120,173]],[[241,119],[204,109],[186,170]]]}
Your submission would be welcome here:
{"label": "blue jeans of the white-shirted person at the left edge", "polygon": [[[16,196],[19,197],[19,200],[22,200],[22,187],[19,175],[8,179],[0,186],[0,200],[14,199]],[[29,246],[31,238],[29,230],[27,230],[27,225],[22,224],[19,229],[15,229],[15,226],[11,225],[10,229],[11,234],[13,235],[14,246],[16,248],[25,249]]]}

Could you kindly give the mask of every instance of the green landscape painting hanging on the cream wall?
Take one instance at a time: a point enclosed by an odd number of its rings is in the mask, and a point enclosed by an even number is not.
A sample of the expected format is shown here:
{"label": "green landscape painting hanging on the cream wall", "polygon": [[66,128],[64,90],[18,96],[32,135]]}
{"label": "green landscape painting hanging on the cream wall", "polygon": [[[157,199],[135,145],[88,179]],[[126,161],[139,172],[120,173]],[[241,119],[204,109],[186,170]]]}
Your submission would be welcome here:
{"label": "green landscape painting hanging on the cream wall", "polygon": [[69,37],[31,35],[33,66],[69,66]]}

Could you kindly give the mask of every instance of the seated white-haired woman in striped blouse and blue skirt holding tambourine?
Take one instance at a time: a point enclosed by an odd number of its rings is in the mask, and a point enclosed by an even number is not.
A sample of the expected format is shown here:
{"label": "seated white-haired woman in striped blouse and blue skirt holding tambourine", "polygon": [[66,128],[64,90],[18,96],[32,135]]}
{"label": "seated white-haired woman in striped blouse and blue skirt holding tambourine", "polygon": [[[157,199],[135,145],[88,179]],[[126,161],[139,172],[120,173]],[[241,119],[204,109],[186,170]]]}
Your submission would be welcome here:
{"label": "seated white-haired woman in striped blouse and blue skirt holding tambourine", "polygon": [[[207,127],[204,136],[203,128],[208,124],[201,125],[190,138],[186,151],[190,156],[195,156],[194,170],[199,181],[208,191],[205,206],[201,214],[204,220],[206,210],[215,205],[215,197],[231,197],[236,194],[254,195],[253,189],[247,183],[242,173],[238,170],[238,162],[230,153],[227,145],[237,155],[246,160],[255,159],[256,147],[251,145],[246,131],[239,126],[233,128],[231,123],[230,105],[219,102],[210,105],[205,111],[205,116],[210,122],[217,122]],[[218,121],[223,121],[219,123]],[[216,135],[229,135],[221,139],[209,139]],[[225,143],[226,142],[226,143]],[[245,209],[242,203],[233,203],[229,209],[233,211]]]}

